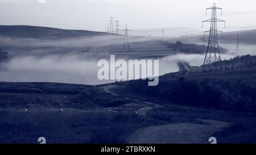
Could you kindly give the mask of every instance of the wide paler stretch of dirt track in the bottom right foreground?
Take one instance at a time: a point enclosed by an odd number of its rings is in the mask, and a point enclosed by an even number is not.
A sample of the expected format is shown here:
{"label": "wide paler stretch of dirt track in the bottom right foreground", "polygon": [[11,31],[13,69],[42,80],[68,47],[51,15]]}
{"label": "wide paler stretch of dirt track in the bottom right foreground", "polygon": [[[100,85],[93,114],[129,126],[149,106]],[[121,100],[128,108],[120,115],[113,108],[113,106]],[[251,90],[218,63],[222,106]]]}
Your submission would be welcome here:
{"label": "wide paler stretch of dirt track in the bottom right foreground", "polygon": [[[175,123],[139,129],[127,138],[135,144],[204,144],[212,133],[228,127],[229,123],[202,120],[205,124]],[[207,125],[206,125],[207,124]]]}

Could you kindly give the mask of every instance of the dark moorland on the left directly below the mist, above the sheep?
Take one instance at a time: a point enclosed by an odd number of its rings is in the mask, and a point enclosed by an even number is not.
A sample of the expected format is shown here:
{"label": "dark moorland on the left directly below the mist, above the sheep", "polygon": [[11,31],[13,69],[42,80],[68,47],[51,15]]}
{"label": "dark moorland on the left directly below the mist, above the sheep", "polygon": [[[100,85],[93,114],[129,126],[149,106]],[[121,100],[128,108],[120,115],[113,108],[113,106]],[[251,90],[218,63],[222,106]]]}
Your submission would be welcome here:
{"label": "dark moorland on the left directly below the mist, above the sheep", "polygon": [[131,100],[88,85],[49,82],[0,82],[1,108],[59,107],[88,109],[115,107]]}

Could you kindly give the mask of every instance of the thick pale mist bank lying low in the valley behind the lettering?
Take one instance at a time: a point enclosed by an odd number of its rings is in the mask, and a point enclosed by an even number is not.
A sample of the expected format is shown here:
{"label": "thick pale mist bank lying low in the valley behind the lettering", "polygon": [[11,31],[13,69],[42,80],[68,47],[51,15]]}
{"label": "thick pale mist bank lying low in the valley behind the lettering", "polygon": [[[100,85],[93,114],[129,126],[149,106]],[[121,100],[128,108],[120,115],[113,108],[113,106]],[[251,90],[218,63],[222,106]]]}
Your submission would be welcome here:
{"label": "thick pale mist bank lying low in the valley behind the lettering", "polygon": [[[230,58],[232,55],[222,55]],[[110,57],[105,56],[106,60]],[[114,82],[100,81],[97,78],[97,62],[101,58],[86,56],[86,53],[75,55],[17,56],[1,64],[0,79],[6,82],[61,82],[96,85]],[[125,58],[124,58],[125,59]],[[203,63],[204,55],[177,54],[159,58],[159,74],[177,72],[176,62],[185,60],[193,66]],[[126,58],[128,60],[128,58]]]}

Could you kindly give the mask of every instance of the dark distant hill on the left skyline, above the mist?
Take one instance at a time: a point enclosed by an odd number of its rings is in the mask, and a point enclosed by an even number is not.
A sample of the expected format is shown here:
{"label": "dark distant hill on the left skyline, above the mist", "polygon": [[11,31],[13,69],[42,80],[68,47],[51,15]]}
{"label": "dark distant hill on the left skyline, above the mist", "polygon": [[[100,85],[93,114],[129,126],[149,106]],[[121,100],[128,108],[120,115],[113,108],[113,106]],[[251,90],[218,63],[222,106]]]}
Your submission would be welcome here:
{"label": "dark distant hill on the left skyline, above the mist", "polygon": [[0,36],[10,38],[61,39],[67,37],[84,37],[110,35],[105,32],[86,30],[62,30],[59,28],[38,26],[0,26]]}

